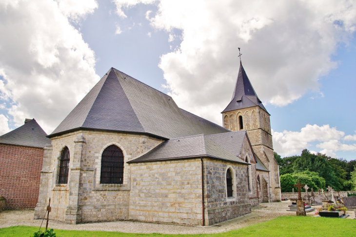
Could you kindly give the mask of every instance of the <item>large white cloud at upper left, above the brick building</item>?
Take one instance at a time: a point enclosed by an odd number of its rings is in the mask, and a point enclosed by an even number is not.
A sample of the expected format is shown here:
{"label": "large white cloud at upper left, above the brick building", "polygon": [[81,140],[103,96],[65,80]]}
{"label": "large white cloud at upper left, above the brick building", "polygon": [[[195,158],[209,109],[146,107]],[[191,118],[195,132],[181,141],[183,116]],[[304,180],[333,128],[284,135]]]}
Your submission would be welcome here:
{"label": "large white cloud at upper left, above the brick building", "polygon": [[1,1],[0,99],[20,126],[35,118],[50,133],[92,88],[95,55],[69,20],[97,7],[91,1]]}

